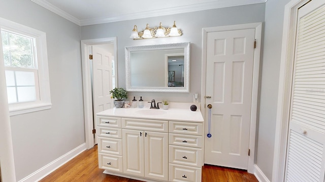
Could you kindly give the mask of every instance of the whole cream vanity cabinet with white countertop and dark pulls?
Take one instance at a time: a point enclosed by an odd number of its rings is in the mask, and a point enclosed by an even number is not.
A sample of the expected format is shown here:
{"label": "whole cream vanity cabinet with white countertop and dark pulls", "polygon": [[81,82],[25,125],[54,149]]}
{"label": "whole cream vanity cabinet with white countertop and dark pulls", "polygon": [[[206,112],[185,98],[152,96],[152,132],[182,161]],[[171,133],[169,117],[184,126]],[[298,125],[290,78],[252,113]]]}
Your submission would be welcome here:
{"label": "whole cream vanity cabinet with white countertop and dark pulls", "polygon": [[119,108],[97,113],[99,167],[106,174],[144,181],[201,181],[201,112],[140,114],[146,112],[150,110]]}

